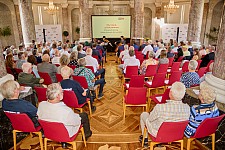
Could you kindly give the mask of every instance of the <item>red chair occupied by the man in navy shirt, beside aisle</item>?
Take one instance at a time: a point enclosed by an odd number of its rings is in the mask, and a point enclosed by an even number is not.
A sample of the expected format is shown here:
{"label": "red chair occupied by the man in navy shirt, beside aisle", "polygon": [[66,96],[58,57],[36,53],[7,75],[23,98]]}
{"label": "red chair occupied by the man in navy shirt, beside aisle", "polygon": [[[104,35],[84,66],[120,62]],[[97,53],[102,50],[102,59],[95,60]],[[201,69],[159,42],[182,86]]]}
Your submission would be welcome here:
{"label": "red chair occupied by the man in navy shirt, beside aisle", "polygon": [[70,108],[74,109],[78,109],[80,110],[80,112],[83,112],[83,106],[85,104],[88,103],[88,107],[89,107],[89,112],[90,112],[90,116],[92,116],[92,111],[91,111],[91,102],[90,99],[87,98],[86,102],[83,104],[78,104],[78,99],[76,94],[74,93],[74,91],[68,91],[68,90],[64,90],[63,91],[63,102]]}

